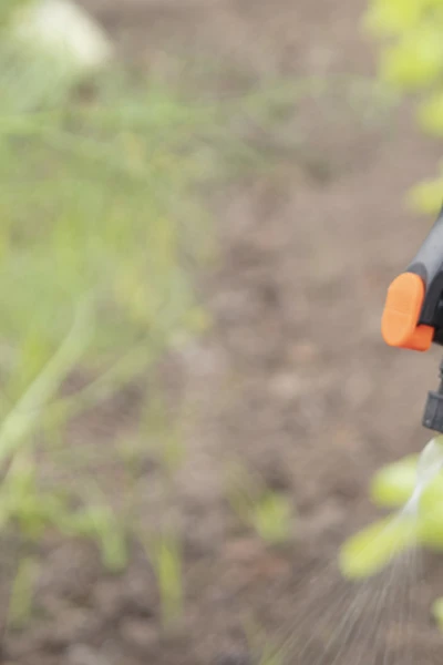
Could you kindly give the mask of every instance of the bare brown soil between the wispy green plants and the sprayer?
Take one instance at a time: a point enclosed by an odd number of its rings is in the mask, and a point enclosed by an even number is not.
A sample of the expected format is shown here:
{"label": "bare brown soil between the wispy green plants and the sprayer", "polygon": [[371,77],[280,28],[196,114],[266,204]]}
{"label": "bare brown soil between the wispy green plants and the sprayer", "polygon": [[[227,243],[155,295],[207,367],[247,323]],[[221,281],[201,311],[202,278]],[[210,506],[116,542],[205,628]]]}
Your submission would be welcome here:
{"label": "bare brown soil between the wispy green plants and the sprayer", "polygon": [[[223,63],[215,91],[227,84],[226,72],[266,81],[374,69],[359,31],[363,0],[83,2],[125,58],[165,78],[215,58]],[[181,630],[162,632],[154,575],[141,552],[112,577],[92,546],[50,543],[38,596],[45,614],[24,634],[4,636],[3,663],[247,665],[255,661],[245,616],[271,637],[289,624],[297,632],[308,612],[313,625],[327,610],[343,611],[328,566],[342,538],[373,514],[370,474],[426,440],[420,422],[439,352],[388,349],[379,329],[385,288],[426,231],[404,211],[405,191],[433,173],[440,155],[413,131],[408,106],[368,127],[340,103],[340,114],[301,108],[288,129],[288,141],[298,132],[305,153],[320,161],[320,175],[286,156],[212,200],[222,260],[205,277],[204,293],[215,327],[165,366],[199,415],[188,428],[176,488],[185,532]],[[223,463],[234,456],[293,502],[293,538],[285,548],[266,546],[229,510]],[[425,563],[411,594],[409,662],[436,664],[440,637],[429,606],[443,595],[443,576],[437,560]],[[388,634],[392,626],[383,627]],[[404,663],[393,647],[388,659],[377,651],[380,633],[370,643],[363,631],[364,648],[354,641],[359,652],[320,659],[312,651],[301,661],[300,633],[288,663]]]}

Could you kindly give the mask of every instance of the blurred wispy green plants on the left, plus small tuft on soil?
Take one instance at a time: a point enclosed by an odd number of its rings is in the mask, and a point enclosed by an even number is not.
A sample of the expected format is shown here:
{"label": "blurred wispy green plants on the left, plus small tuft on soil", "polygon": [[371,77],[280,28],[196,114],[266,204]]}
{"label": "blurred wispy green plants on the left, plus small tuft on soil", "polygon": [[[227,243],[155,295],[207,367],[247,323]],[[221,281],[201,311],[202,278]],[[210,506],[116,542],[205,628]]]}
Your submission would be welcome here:
{"label": "blurred wispy green plants on the left, plus small tuft on soil", "polygon": [[[19,3],[1,4],[3,29]],[[281,160],[278,136],[255,145],[248,132],[285,125],[305,96],[333,92],[368,123],[393,96],[342,76],[196,103],[116,63],[72,75],[7,30],[0,88],[0,529],[23,541],[10,604],[11,624],[22,625],[45,532],[92,540],[113,572],[128,561],[130,536],[141,538],[131,505],[121,514],[91,478],[91,456],[122,463],[126,504],[146,456],[161,468],[165,502],[172,492],[186,451],[152,377],[164,352],[209,325],[193,288],[194,272],[214,257],[203,187]],[[303,157],[302,141],[288,146],[284,135],[285,154]],[[138,431],[106,441],[105,452],[78,447],[72,423],[133,385]],[[229,490],[234,510],[266,542],[285,543],[288,498],[244,480]],[[183,612],[179,534],[159,530],[146,553],[171,625]]]}

